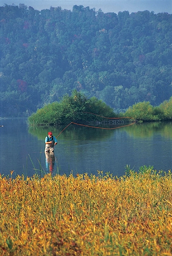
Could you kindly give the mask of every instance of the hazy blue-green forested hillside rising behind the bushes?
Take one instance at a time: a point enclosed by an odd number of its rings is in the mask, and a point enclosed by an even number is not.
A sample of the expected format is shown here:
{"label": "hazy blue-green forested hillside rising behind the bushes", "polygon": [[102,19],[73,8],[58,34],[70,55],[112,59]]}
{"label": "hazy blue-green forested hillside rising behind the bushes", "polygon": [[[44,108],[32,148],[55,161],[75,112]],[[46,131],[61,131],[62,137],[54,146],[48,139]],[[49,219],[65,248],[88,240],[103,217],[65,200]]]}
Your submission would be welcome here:
{"label": "hazy blue-green forested hillside rising behind the bushes", "polygon": [[114,109],[172,95],[172,15],[0,7],[1,117],[29,115],[73,89]]}

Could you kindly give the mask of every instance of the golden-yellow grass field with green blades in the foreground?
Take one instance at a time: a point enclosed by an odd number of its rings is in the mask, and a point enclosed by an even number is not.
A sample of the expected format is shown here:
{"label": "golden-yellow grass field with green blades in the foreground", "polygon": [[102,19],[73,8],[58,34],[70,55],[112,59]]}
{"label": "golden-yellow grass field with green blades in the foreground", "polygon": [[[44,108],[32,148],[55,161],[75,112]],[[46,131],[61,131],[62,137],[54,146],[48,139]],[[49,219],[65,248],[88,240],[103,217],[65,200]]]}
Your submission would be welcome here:
{"label": "golden-yellow grass field with green blades in the foreground", "polygon": [[1,256],[172,256],[172,173],[0,176]]}

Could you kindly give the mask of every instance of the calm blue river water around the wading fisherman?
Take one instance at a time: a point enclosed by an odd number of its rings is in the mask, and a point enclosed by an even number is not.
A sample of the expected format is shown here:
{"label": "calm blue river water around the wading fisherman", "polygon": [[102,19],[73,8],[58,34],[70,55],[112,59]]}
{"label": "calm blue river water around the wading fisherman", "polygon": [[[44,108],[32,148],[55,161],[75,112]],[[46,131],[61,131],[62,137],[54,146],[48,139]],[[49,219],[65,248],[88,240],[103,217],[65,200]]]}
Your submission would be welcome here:
{"label": "calm blue river water around the wading fisherman", "polygon": [[34,173],[58,174],[109,172],[125,174],[126,165],[136,171],[143,165],[172,170],[172,122],[134,124],[114,130],[71,124],[58,137],[53,156],[46,158],[48,131],[57,136],[65,125],[33,127],[26,119],[0,120],[0,173],[31,177]]}

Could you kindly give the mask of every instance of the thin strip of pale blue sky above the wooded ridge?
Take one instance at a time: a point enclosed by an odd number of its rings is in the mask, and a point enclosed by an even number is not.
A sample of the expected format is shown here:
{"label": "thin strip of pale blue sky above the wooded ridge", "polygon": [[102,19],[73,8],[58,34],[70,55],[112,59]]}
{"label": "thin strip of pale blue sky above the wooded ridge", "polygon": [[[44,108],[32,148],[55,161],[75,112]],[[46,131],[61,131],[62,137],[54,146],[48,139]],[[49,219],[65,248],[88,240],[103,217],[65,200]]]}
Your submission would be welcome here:
{"label": "thin strip of pale blue sky above the wooded ridge", "polygon": [[89,6],[102,9],[104,13],[119,11],[154,11],[154,13],[168,12],[172,14],[172,0],[0,0],[0,5],[19,5],[20,3],[32,6],[36,10],[50,9],[50,6],[61,6],[62,9],[72,10],[74,5]]}

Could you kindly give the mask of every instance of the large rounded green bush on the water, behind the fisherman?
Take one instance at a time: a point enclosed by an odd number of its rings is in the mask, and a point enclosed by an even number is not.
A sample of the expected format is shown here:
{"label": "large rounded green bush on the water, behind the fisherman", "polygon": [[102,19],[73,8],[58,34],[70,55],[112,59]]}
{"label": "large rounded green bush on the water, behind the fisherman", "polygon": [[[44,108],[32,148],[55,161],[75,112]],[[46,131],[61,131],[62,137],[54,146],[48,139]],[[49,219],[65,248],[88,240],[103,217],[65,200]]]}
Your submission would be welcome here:
{"label": "large rounded green bush on the water, behind the fisherman", "polygon": [[[88,99],[82,93],[74,90],[72,95],[64,95],[60,102],[53,102],[38,109],[29,118],[29,124],[35,125],[57,125],[68,124],[79,121],[102,121],[104,118],[90,113],[102,115],[104,117],[115,117],[112,108],[101,100],[91,97]],[[33,121],[34,120],[34,121]]]}

